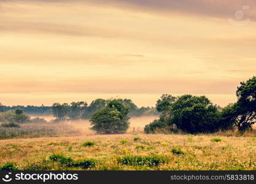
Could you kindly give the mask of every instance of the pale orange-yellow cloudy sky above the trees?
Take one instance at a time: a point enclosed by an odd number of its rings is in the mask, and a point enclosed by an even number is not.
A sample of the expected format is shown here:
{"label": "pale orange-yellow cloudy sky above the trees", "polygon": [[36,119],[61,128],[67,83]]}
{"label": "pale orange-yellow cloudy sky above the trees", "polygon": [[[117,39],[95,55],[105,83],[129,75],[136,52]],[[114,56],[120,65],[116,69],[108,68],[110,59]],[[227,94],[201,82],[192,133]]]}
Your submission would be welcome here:
{"label": "pale orange-yellow cloudy sky above the trees", "polygon": [[256,0],[0,0],[0,102],[161,94],[236,101],[256,74]]}

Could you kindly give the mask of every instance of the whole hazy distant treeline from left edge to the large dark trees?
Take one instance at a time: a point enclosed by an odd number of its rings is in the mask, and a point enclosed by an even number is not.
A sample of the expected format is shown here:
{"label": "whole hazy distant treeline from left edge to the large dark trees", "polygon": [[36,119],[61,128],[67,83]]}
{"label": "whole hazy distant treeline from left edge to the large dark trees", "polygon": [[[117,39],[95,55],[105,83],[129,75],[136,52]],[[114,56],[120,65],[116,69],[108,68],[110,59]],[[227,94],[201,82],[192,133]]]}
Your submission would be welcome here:
{"label": "whole hazy distant treeline from left edge to the large dark trees", "polygon": [[[133,101],[131,101],[131,99],[122,99],[122,101],[130,108],[128,117],[159,115],[159,112],[155,107],[139,108],[136,104],[133,103]],[[45,106],[43,104],[41,106],[6,106],[2,105],[0,102],[0,112],[15,111],[20,109],[28,115],[53,115],[58,120],[77,120],[80,118],[89,119],[93,113],[106,106],[106,104],[107,100],[105,99],[96,99],[92,101],[90,105],[88,105],[87,102],[72,102],[71,104],[55,103],[52,106]]]}

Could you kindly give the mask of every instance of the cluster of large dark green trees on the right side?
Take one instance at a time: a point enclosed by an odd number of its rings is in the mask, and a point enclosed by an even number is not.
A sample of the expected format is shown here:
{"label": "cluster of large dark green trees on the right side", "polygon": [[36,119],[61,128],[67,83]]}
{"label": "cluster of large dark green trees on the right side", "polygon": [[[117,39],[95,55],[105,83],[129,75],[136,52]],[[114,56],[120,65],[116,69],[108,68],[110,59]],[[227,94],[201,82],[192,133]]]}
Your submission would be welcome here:
{"label": "cluster of large dark green trees on the right side", "polygon": [[256,123],[256,77],[240,84],[236,90],[238,101],[223,109],[206,96],[163,94],[156,104],[160,118],[146,125],[144,132],[166,129],[196,134],[235,128],[241,134],[252,131]]}

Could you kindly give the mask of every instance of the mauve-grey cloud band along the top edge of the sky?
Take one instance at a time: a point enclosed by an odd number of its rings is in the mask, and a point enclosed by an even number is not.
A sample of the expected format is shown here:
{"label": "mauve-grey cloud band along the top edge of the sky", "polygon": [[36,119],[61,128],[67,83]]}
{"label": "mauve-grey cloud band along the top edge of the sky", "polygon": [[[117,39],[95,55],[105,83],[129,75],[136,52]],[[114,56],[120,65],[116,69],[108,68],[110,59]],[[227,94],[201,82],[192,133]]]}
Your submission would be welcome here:
{"label": "mauve-grey cloud band along the top edge of the sky", "polygon": [[[15,2],[15,0],[9,0]],[[9,2],[8,0],[2,2]],[[243,10],[244,17],[256,20],[256,0],[26,0],[31,3],[59,4],[98,4],[99,6],[117,6],[123,9],[153,10],[162,13],[186,13],[209,17],[232,18],[242,6],[250,6]],[[16,1],[17,2],[17,1]]]}

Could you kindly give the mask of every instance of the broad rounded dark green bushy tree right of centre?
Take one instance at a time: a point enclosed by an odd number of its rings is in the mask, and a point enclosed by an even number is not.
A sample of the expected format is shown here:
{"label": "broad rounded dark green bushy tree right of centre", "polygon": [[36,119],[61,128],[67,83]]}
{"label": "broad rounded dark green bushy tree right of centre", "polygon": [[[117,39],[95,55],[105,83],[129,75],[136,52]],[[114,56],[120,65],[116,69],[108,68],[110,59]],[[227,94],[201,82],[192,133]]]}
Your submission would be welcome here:
{"label": "broad rounded dark green bushy tree right of centre", "polygon": [[161,112],[160,119],[145,126],[146,133],[166,126],[191,134],[215,132],[220,128],[220,113],[217,106],[205,96],[185,94],[176,98],[163,94],[157,101],[157,109]]}

